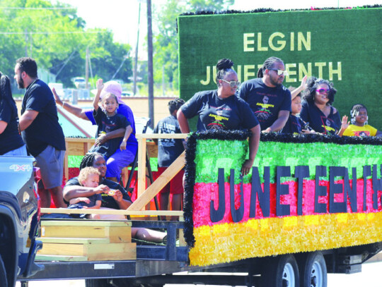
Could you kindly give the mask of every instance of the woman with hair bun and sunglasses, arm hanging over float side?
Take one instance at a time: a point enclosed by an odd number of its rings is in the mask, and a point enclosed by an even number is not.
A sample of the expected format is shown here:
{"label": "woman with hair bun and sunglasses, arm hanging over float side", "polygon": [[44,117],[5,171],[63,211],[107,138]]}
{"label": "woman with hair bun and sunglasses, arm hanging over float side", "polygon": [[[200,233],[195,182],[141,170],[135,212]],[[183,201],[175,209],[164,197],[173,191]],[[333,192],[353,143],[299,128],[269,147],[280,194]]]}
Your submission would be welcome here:
{"label": "woman with hair bun and sunglasses, arm hanging over float side", "polygon": [[250,106],[235,96],[238,75],[233,62],[221,59],[216,65],[217,90],[197,92],[178,110],[177,118],[182,133],[190,133],[187,118],[199,116],[197,130],[241,130],[252,132],[250,158],[245,160],[241,173],[247,174],[253,166],[260,141],[260,125]]}

